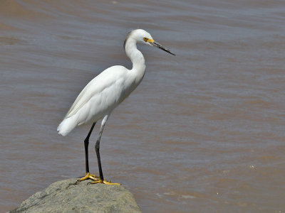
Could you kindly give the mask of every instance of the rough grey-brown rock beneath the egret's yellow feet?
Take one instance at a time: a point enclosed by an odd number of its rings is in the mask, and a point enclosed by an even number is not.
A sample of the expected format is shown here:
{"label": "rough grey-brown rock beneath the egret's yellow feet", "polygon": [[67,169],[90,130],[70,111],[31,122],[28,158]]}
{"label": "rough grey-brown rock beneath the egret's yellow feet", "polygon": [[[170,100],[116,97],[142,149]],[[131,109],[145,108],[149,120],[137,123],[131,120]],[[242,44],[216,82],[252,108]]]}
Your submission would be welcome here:
{"label": "rough grey-brown rock beneath the egret's yellow feet", "polygon": [[121,185],[61,180],[36,192],[11,212],[140,212],[133,195]]}

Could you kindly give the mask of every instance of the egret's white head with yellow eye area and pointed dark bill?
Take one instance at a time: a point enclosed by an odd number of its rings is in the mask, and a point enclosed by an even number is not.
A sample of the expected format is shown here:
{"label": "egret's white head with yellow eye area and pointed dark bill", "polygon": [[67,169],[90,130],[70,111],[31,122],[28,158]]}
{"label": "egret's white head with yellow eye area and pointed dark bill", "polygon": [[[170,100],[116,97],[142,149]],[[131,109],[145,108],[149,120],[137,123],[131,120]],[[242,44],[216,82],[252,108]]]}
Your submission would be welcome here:
{"label": "egret's white head with yellow eye area and pointed dark bill", "polygon": [[[156,48],[159,48],[160,50],[164,50],[165,52],[170,53],[171,55],[175,55],[174,53],[171,53],[170,50],[168,50],[167,48],[165,48],[162,45],[160,45],[159,43],[155,42],[155,40],[153,40],[150,33],[147,33],[147,31],[145,31],[145,30],[137,29],[134,31],[130,31],[130,33],[128,33],[128,35],[127,35],[127,38],[125,38],[125,42],[129,38],[133,38],[138,43],[144,43],[147,45],[151,45],[152,47],[156,47]],[[124,43],[124,46],[125,46],[125,43]]]}

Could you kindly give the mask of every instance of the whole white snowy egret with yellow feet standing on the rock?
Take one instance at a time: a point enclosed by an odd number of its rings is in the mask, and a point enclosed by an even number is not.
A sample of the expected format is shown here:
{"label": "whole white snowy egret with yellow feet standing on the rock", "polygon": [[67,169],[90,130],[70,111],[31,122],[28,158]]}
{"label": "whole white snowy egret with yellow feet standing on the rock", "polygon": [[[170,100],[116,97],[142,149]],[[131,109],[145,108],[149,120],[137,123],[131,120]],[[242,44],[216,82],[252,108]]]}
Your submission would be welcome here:
{"label": "whole white snowy egret with yellow feet standing on the rock", "polygon": [[[145,58],[137,48],[137,43],[145,43],[167,53],[175,55],[152,39],[150,33],[142,29],[130,31],[125,38],[124,48],[128,58],[133,62],[133,69],[128,70],[123,66],[113,66],[104,70],[97,77],[91,80],[76,98],[76,101],[69,109],[61,124],[58,126],[58,133],[66,136],[76,126],[81,124],[92,124],[86,139],[84,140],[86,154],[86,176],[81,180],[91,179],[93,183],[105,183],[107,185],[116,185],[103,178],[103,172],[100,161],[100,138],[105,123],[110,116],[111,111],[117,107],[120,102],[129,96],[133,90],[138,87],[145,75]],[[98,160],[99,175],[90,175],[88,164],[88,145],[90,134],[96,124],[96,121],[102,119],[98,139],[95,143],[95,152]]]}

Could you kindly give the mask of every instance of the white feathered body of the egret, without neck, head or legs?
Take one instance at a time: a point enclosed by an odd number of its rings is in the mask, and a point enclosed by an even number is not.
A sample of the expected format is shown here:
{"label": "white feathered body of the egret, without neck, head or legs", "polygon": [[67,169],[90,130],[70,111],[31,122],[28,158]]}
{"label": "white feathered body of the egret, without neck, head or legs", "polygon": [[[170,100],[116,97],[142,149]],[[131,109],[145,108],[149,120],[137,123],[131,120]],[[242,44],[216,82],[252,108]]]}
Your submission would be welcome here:
{"label": "white feathered body of the egret, without neck, head or legs", "polygon": [[66,136],[76,126],[98,121],[135,89],[135,75],[123,66],[109,67],[91,80],[76,98],[58,133]]}

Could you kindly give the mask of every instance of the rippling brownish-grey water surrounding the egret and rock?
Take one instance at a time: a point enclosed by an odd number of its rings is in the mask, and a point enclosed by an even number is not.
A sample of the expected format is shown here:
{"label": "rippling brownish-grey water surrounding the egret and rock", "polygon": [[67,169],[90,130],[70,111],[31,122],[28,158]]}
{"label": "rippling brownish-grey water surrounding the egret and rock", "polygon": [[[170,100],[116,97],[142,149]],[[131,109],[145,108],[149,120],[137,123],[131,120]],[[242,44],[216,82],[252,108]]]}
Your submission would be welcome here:
{"label": "rippling brownish-grey water surrounding the egret and rock", "polygon": [[1,1],[1,212],[84,175],[90,126],[56,128],[95,75],[131,67],[135,28],[177,56],[140,47],[145,78],[103,133],[105,177],[142,212],[285,212],[285,1],[258,0]]}

